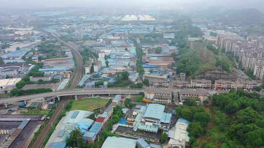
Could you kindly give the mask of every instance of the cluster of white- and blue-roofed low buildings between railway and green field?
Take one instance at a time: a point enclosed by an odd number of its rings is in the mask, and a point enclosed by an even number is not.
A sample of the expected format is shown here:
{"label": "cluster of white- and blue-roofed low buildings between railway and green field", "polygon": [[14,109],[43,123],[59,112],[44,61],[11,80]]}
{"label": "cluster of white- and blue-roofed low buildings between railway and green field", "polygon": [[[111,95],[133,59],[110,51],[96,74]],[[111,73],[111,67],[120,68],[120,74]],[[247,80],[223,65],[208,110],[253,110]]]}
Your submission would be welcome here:
{"label": "cluster of white- and blue-roofed low buildings between railway and green field", "polygon": [[92,111],[68,111],[66,116],[56,126],[45,148],[66,148],[66,139],[69,137],[69,133],[76,128],[80,129],[86,143],[93,143],[112,116],[112,113],[113,108],[110,105],[102,114],[96,115],[96,120],[94,121],[88,118],[94,115]]}

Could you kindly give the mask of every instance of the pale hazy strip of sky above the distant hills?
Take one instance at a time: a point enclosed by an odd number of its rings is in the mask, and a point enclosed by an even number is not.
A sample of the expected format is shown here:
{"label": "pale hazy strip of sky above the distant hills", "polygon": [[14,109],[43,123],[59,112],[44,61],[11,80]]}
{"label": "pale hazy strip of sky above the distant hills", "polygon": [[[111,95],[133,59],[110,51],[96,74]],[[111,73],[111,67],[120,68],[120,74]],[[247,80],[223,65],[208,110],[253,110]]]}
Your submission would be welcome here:
{"label": "pale hazy strip of sky above the distant hills", "polygon": [[196,6],[221,5],[234,8],[264,7],[264,0],[0,0],[0,8],[47,8],[47,7],[88,7],[94,5],[150,7],[153,5],[195,4]]}

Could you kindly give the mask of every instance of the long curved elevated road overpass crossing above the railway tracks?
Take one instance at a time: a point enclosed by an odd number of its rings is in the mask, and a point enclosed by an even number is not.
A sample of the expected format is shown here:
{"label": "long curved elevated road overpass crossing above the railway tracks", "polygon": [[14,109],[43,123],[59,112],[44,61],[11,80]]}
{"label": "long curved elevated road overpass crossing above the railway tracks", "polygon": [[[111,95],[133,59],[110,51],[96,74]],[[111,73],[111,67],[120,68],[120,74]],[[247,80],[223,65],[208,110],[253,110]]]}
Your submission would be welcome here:
{"label": "long curved elevated road overpass crossing above the railway tracks", "polygon": [[57,97],[57,96],[71,96],[71,95],[88,95],[88,94],[138,94],[139,92],[143,92],[143,90],[135,90],[135,89],[75,89],[75,90],[63,90],[58,92],[46,92],[46,93],[38,93],[32,95],[23,95],[18,97],[4,98],[0,99],[0,104],[17,102],[17,101],[26,101],[33,100],[38,98],[45,97]]}

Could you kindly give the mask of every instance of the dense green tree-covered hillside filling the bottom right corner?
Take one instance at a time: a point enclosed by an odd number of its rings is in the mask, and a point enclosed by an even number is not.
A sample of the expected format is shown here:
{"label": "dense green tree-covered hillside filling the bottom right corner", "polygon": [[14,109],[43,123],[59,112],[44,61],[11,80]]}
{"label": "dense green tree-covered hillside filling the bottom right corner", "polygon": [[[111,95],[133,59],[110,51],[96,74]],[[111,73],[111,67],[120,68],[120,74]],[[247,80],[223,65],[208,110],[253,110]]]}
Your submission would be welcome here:
{"label": "dense green tree-covered hillside filling the bottom right corner", "polygon": [[210,105],[176,109],[178,117],[191,122],[192,148],[264,146],[264,100],[258,93],[231,91],[213,96]]}

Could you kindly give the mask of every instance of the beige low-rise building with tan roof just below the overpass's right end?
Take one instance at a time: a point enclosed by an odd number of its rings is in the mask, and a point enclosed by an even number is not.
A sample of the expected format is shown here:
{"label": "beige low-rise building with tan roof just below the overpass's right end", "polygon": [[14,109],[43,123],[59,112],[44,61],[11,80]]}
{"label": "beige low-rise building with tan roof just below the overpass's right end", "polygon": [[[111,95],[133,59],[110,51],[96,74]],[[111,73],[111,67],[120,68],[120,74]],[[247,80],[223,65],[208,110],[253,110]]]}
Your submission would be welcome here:
{"label": "beige low-rise building with tan roof just below the overpass's right end", "polygon": [[153,103],[170,104],[172,102],[172,91],[150,87],[145,90],[145,97]]}

